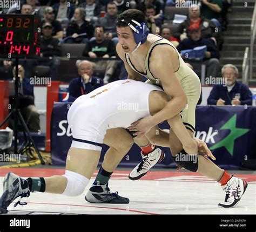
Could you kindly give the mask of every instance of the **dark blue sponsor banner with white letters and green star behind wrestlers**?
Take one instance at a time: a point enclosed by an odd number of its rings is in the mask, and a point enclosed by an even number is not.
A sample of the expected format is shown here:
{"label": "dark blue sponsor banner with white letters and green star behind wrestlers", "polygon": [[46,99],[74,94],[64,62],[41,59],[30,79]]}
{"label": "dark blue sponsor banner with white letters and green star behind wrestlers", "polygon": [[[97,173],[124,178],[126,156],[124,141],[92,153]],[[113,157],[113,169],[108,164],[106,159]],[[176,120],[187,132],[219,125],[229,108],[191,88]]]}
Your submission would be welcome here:
{"label": "dark blue sponsor banner with white letters and green star behind wrestlers", "polygon": [[[51,117],[51,158],[53,165],[65,165],[72,142],[66,115],[71,103],[56,103]],[[253,106],[197,106],[195,137],[204,140],[222,168],[239,168],[242,160],[256,158],[256,107]],[[161,129],[170,129],[163,122]],[[103,146],[100,162],[108,147]],[[160,147],[165,159],[156,167],[176,167],[169,148]],[[141,161],[140,148],[134,144],[120,162],[134,167]]]}

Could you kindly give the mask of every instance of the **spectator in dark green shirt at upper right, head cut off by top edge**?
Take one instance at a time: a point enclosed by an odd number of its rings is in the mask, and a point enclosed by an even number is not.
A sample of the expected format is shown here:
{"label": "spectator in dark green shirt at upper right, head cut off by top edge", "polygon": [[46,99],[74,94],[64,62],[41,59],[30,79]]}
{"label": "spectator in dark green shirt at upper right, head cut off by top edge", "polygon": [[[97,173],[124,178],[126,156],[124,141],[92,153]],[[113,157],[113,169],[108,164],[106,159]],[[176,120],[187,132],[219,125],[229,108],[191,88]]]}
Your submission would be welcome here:
{"label": "spectator in dark green shirt at upper right, head cut off by top edge", "polygon": [[220,12],[223,8],[221,0],[200,0],[201,2],[201,17],[210,19],[219,32],[221,32]]}

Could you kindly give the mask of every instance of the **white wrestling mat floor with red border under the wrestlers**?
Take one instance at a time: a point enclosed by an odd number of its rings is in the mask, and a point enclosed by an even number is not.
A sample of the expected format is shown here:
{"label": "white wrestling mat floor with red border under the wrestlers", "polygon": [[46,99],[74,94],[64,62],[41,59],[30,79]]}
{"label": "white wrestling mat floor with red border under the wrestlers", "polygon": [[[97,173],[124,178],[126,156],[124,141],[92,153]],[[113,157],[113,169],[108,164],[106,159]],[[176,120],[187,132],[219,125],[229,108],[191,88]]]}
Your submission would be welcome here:
{"label": "white wrestling mat floor with red border under the wrestlers", "polygon": [[[45,168],[47,167],[47,168]],[[0,169],[0,194],[6,173],[14,172],[23,177],[64,174],[63,168],[39,166],[37,168]],[[197,173],[177,172],[176,169],[153,169],[143,179],[128,179],[130,169],[118,168],[109,182],[112,192],[129,197],[129,204],[91,204],[84,200],[90,185],[78,197],[48,193],[32,193],[23,198],[25,206],[14,203],[9,214],[256,214],[256,171],[236,170],[233,175],[248,182],[247,190],[234,208],[218,208],[225,193],[217,182]],[[18,199],[15,200],[17,202]]]}

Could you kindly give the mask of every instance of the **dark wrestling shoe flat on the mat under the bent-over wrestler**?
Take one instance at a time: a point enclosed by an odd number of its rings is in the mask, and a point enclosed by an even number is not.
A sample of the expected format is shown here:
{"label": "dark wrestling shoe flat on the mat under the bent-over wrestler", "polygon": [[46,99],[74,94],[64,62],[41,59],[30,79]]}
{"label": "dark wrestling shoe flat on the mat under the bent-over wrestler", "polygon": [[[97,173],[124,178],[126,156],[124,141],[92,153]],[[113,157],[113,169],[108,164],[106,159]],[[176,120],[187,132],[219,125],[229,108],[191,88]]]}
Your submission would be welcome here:
{"label": "dark wrestling shoe flat on the mat under the bent-over wrestler", "polygon": [[90,203],[110,203],[110,204],[128,204],[130,200],[126,197],[119,196],[118,192],[112,193],[106,185],[92,184],[88,193],[85,196],[85,200]]}

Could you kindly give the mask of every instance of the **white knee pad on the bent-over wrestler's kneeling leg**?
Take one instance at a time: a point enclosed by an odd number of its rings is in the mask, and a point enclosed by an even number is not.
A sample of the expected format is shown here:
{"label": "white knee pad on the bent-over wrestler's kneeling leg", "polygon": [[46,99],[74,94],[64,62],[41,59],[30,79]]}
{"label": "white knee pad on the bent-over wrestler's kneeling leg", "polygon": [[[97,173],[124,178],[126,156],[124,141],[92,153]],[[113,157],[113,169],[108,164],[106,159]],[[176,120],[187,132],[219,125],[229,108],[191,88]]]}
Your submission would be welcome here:
{"label": "white knee pad on the bent-over wrestler's kneeling leg", "polygon": [[83,175],[80,175],[75,172],[71,172],[70,170],[65,171],[66,179],[68,179],[68,183],[66,185],[66,189],[62,193],[66,196],[79,196],[84,192],[85,187],[89,183],[89,179]]}

